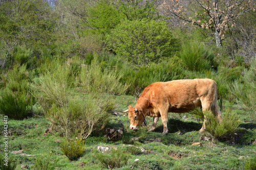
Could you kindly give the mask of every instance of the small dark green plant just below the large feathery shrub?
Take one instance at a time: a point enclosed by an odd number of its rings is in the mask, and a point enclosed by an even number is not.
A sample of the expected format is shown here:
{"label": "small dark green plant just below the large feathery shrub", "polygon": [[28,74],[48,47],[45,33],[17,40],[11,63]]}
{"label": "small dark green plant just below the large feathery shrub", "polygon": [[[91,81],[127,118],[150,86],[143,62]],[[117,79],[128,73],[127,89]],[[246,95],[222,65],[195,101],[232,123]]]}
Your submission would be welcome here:
{"label": "small dark green plant just below the large feathery shrub", "polygon": [[71,141],[63,139],[60,148],[60,151],[65,154],[69,160],[74,161],[82,156],[85,146],[82,138]]}

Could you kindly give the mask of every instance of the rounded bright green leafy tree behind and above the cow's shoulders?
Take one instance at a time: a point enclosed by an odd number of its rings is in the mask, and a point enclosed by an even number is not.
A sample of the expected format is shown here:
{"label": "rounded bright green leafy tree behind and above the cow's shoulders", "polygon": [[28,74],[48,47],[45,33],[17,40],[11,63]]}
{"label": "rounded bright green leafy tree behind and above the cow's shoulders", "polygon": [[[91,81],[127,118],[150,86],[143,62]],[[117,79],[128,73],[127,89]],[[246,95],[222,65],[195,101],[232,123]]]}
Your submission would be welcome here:
{"label": "rounded bright green leafy tree behind and above the cow's shoulders", "polygon": [[165,22],[155,20],[125,20],[107,36],[106,44],[138,67],[173,56],[179,46]]}

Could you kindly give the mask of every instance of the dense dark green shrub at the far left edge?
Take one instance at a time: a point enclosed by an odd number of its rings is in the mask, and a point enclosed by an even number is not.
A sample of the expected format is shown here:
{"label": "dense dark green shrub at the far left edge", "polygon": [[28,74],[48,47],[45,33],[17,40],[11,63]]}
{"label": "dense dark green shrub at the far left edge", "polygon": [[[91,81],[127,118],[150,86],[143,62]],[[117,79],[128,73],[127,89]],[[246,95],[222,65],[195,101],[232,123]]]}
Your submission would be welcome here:
{"label": "dense dark green shrub at the far left edge", "polygon": [[23,119],[32,113],[35,103],[31,95],[29,72],[26,65],[14,65],[7,73],[5,88],[0,90],[0,112],[10,118]]}

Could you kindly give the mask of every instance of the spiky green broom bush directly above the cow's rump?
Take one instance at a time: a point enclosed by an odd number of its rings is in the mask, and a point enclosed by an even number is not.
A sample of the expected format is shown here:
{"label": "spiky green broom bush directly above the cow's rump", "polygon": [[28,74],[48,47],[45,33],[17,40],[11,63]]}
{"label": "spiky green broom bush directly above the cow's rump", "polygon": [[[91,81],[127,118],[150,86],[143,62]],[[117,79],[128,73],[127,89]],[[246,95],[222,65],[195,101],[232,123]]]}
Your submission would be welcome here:
{"label": "spiky green broom bush directly above the cow's rump", "polygon": [[214,54],[198,42],[183,44],[178,56],[190,71],[210,70],[217,65]]}

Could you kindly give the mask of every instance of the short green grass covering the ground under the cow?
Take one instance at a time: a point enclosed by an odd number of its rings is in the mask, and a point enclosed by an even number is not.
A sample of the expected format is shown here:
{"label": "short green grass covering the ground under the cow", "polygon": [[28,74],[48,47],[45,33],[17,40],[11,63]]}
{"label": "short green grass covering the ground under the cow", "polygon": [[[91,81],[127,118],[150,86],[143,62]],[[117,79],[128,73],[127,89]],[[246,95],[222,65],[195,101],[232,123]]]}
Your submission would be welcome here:
{"label": "short green grass covering the ground under the cow", "polygon": [[[134,105],[136,99],[132,96],[117,96],[115,111],[126,109],[127,104]],[[229,107],[228,102],[226,106]],[[153,118],[146,117],[147,127],[138,131],[129,129],[130,120],[125,113],[118,116],[110,114],[110,124],[117,124],[121,120],[124,125],[124,138],[117,142],[108,141],[102,133],[92,134],[84,141],[82,157],[76,161],[69,159],[61,152],[62,134],[55,129],[51,130],[51,123],[45,117],[31,117],[24,120],[8,121],[9,151],[23,150],[26,156],[9,153],[18,162],[16,169],[21,164],[27,164],[31,169],[36,169],[37,164],[46,164],[56,169],[109,169],[102,167],[101,162],[95,158],[99,154],[97,146],[111,146],[121,151],[130,153],[127,164],[118,169],[245,169],[254,166],[256,156],[256,125],[250,122],[248,114],[238,110],[238,105],[233,105],[232,110],[237,113],[241,120],[239,129],[239,141],[203,141],[198,132],[201,122],[191,114],[169,113],[168,135],[162,135],[163,126],[161,119],[155,132],[146,132],[150,128]],[[224,113],[223,113],[224,114]],[[186,115],[186,118],[183,118]],[[3,120],[4,117],[1,115]],[[4,123],[1,121],[0,128],[3,135]],[[47,130],[48,129],[48,130]],[[182,132],[182,135],[179,134]],[[137,138],[137,139],[134,139]],[[236,140],[236,139],[233,139]],[[0,151],[4,153],[3,138],[1,138]],[[191,146],[194,142],[202,142],[202,146]],[[136,149],[128,149],[130,144],[136,145],[145,152],[137,152]],[[51,155],[51,156],[49,156]],[[49,162],[40,156],[49,156]],[[135,159],[139,159],[135,162]],[[56,162],[55,162],[56,161]],[[247,168],[248,169],[248,168]]]}

